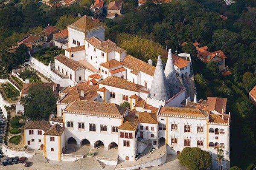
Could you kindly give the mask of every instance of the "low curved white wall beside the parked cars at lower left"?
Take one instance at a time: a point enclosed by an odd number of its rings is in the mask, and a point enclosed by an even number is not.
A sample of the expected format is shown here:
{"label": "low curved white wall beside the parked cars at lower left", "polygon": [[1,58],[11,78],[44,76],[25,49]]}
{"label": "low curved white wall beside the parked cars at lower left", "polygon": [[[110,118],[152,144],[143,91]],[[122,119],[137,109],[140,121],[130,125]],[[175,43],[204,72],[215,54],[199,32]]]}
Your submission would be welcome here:
{"label": "low curved white wall beside the parked cars at lower left", "polygon": [[35,152],[28,152],[27,150],[22,149],[13,149],[5,144],[3,144],[3,154],[9,157],[15,157],[15,156],[26,156],[26,157],[32,157],[35,156]]}

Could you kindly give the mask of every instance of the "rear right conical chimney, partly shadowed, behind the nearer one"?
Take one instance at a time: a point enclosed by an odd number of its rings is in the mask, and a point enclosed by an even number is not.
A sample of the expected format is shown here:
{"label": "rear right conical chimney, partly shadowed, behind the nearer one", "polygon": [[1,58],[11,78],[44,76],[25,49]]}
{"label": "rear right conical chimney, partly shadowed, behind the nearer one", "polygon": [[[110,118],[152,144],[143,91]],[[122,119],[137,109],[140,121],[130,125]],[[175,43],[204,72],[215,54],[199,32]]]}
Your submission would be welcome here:
{"label": "rear right conical chimney, partly shadowed, behind the nearer one", "polygon": [[172,59],[172,49],[169,49],[168,58],[166,62],[166,68],[164,69],[164,74],[166,76],[171,97],[179,92],[179,84],[176,76],[176,71],[174,69],[174,63]]}

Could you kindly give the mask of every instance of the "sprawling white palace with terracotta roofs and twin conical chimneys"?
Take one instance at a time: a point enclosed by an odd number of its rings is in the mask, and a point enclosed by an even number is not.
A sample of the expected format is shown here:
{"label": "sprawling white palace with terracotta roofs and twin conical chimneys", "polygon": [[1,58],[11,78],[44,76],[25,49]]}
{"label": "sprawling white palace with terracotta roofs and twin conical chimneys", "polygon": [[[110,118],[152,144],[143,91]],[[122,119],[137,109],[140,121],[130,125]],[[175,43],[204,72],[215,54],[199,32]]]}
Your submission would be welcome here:
{"label": "sprawling white palace with terracotta roofs and twin conical chimneys", "polygon": [[[175,68],[190,66],[187,60],[169,49],[165,68],[161,56],[154,67],[152,60],[143,62],[104,40],[105,27],[86,15],[67,30],[69,48],[55,57],[55,71],[76,85],[58,94],[57,117],[26,122],[28,148],[61,161],[69,144],[116,147],[118,160],[134,161],[148,148],[166,145],[167,153],[176,155],[184,147],[200,147],[212,155],[213,169],[218,168],[216,148],[222,148],[223,168],[230,167],[227,99],[186,99]],[[175,66],[182,60],[185,64]],[[121,107],[123,103],[130,109]]]}

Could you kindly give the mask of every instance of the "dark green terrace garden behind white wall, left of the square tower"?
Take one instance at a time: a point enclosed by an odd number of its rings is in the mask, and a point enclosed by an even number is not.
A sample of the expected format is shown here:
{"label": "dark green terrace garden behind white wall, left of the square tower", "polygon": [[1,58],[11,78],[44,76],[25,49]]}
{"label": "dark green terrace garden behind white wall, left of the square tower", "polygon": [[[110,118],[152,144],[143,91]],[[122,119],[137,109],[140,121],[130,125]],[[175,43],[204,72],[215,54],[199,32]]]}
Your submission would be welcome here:
{"label": "dark green terrace garden behind white wall, left of the square tower", "polygon": [[49,65],[50,62],[54,63],[54,57],[58,54],[65,54],[65,52],[61,48],[55,46],[37,51],[32,57],[42,62],[44,65]]}

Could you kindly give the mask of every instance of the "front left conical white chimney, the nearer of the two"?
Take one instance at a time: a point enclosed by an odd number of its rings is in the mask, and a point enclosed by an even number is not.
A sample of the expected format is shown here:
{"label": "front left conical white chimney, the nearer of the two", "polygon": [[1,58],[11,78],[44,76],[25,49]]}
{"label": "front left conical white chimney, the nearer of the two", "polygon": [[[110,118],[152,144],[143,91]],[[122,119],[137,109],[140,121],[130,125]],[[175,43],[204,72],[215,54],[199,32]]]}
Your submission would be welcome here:
{"label": "front left conical white chimney, the nearer of the two", "polygon": [[163,71],[161,56],[158,56],[157,59],[157,67],[154,72],[154,77],[150,89],[150,98],[165,101],[170,99],[168,82]]}

